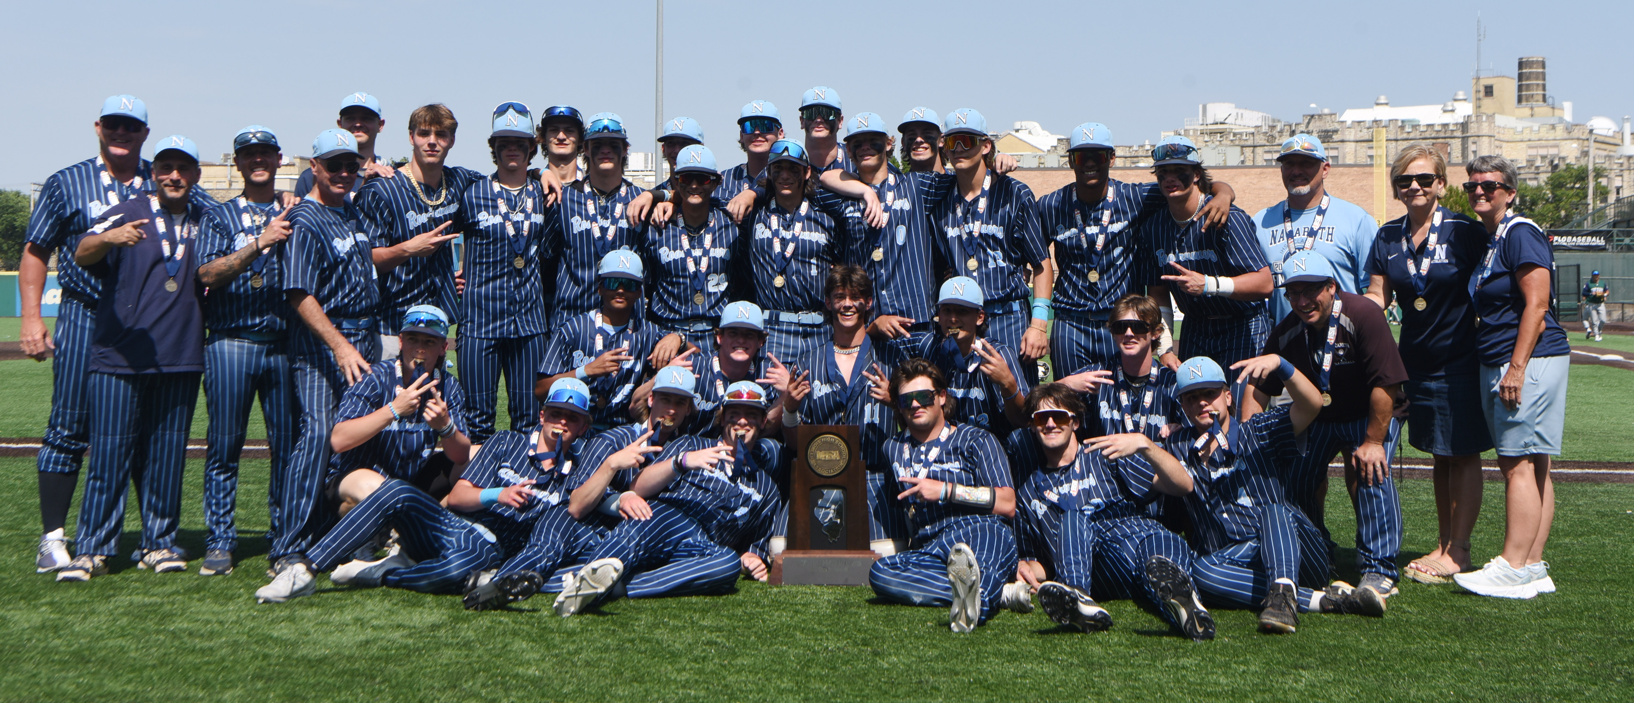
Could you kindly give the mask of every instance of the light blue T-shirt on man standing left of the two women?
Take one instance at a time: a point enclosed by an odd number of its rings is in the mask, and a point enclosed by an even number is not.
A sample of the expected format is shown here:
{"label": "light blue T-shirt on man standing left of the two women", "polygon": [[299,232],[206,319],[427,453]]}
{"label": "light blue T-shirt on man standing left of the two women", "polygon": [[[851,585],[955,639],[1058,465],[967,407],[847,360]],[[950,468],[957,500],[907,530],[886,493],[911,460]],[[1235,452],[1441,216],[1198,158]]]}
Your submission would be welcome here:
{"label": "light blue T-shirt on man standing left of the two women", "polygon": [[[1265,260],[1271,262],[1271,278],[1281,283],[1283,260],[1294,255],[1288,237],[1283,232],[1283,206],[1276,203],[1253,214],[1253,231],[1265,247]],[[1322,216],[1322,231],[1312,234],[1320,199],[1310,209],[1292,211],[1294,244],[1299,250],[1315,249],[1338,273],[1338,288],[1345,293],[1363,293],[1368,289],[1368,255],[1373,252],[1373,240],[1379,234],[1379,222],[1368,211],[1356,204],[1328,196],[1327,214]],[[1299,237],[1306,237],[1299,245]],[[1292,312],[1283,289],[1271,291],[1271,322],[1279,322]]]}

